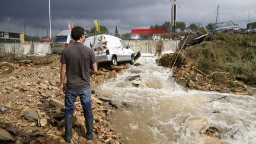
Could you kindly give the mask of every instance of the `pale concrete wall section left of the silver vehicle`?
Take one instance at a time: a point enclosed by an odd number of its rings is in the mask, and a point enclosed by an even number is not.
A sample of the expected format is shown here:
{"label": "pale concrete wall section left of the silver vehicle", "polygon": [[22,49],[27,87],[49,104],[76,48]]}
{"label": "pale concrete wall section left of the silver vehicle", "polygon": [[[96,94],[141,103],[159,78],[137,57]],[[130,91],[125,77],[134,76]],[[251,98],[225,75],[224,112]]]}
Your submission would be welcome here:
{"label": "pale concrete wall section left of the silver vehicle", "polygon": [[0,43],[0,49],[5,53],[18,56],[51,54],[50,43]]}

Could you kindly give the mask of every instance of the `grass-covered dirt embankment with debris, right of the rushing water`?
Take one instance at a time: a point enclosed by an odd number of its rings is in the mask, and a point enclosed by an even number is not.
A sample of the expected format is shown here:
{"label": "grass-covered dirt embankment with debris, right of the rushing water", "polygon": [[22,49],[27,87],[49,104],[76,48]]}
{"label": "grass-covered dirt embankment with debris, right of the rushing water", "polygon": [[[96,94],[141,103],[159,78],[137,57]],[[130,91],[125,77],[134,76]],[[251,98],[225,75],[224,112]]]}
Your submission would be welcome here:
{"label": "grass-covered dirt embankment with debris, right of the rushing water", "polygon": [[[172,68],[177,53],[159,59]],[[175,62],[179,84],[204,91],[255,93],[256,34],[213,34],[196,46],[182,50]],[[254,87],[254,88],[253,88]]]}

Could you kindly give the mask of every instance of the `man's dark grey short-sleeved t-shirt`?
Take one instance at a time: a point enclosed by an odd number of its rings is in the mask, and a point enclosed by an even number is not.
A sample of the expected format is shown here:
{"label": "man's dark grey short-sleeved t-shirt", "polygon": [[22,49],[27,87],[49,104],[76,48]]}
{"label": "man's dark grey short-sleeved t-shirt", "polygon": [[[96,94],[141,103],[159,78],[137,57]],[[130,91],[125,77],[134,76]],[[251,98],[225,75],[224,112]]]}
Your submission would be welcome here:
{"label": "man's dark grey short-sleeved t-shirt", "polygon": [[90,66],[95,63],[92,49],[82,43],[73,43],[62,51],[60,62],[66,64],[68,88],[85,88],[90,85]]}

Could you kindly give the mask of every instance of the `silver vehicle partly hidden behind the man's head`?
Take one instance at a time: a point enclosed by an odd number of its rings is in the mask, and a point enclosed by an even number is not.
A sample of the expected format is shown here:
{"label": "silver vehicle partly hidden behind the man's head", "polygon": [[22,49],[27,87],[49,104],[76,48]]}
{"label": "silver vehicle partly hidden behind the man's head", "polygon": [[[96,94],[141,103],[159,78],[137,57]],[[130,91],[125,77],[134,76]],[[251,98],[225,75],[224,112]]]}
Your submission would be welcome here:
{"label": "silver vehicle partly hidden behind the man's head", "polygon": [[62,50],[73,42],[75,41],[71,39],[71,30],[63,30],[55,36],[50,47],[53,53],[62,53]]}

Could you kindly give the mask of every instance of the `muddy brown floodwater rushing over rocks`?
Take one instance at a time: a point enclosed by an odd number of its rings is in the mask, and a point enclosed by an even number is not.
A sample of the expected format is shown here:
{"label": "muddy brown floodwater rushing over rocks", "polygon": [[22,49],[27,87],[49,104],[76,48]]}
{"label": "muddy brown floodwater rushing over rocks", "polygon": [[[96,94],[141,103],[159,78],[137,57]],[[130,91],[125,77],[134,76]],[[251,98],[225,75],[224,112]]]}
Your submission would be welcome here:
{"label": "muddy brown floodwater rushing over rocks", "polygon": [[[124,143],[256,143],[255,95],[188,91],[174,81],[171,69],[149,56],[96,88],[115,103],[132,104],[109,116]],[[135,75],[139,87],[127,80]],[[223,96],[228,100],[207,103]],[[209,127],[219,130],[217,138],[203,134]]]}

